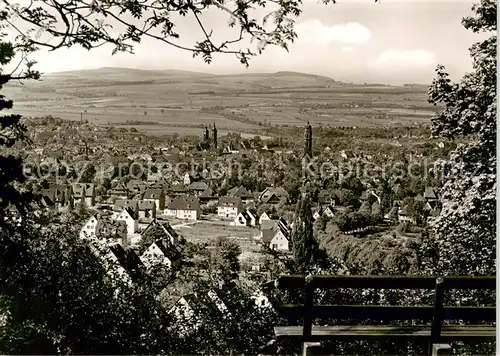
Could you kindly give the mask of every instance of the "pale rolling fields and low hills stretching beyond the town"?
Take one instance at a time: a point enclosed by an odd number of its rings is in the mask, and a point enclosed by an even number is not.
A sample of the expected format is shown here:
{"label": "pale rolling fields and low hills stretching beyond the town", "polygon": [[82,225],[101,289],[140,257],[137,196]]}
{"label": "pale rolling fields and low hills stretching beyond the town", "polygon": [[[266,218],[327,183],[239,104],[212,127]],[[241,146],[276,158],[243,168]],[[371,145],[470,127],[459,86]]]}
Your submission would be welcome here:
{"label": "pale rolling fields and low hills stretching beyond the town", "polygon": [[353,85],[294,72],[213,75],[125,68],[47,74],[9,83],[5,94],[26,116],[52,115],[101,125],[144,121],[139,131],[259,134],[269,125],[377,126],[424,123],[436,111],[425,86]]}

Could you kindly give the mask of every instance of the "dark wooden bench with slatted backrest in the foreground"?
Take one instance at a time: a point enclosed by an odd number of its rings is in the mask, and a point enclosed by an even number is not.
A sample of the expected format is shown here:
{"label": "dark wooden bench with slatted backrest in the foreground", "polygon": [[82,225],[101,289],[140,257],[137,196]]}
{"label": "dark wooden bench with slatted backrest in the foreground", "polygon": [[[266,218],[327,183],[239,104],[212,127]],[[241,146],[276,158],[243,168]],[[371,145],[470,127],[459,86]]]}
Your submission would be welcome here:
{"label": "dark wooden bench with slatted backrest in the foreground", "polygon": [[[303,305],[278,307],[282,317],[303,319],[302,326],[277,326],[280,339],[298,339],[305,343],[327,340],[425,340],[429,354],[446,354],[451,341],[491,341],[495,339],[495,306],[445,306],[445,292],[451,290],[492,290],[492,277],[383,277],[383,276],[283,276],[277,280],[280,289],[304,291]],[[317,289],[424,289],[434,290],[432,306],[382,305],[314,305]],[[427,325],[335,325],[313,326],[314,319],[350,319],[364,321],[426,320]],[[448,320],[460,320],[475,325],[443,325]],[[484,325],[489,322],[490,325]],[[479,323],[479,324],[478,324]],[[305,348],[304,348],[305,349]],[[434,351],[433,351],[434,350]],[[443,353],[444,352],[444,353]],[[451,352],[451,351],[450,351]]]}

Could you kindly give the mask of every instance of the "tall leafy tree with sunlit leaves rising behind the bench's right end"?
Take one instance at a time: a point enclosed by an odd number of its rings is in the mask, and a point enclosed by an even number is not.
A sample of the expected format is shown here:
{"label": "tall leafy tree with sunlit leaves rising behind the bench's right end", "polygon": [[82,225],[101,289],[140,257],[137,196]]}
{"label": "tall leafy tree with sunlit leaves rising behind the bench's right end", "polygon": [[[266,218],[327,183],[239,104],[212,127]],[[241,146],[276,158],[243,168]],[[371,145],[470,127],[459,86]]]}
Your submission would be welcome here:
{"label": "tall leafy tree with sunlit leaves rising behind the bench's right end", "polygon": [[445,105],[433,119],[434,133],[469,139],[450,155],[431,235],[436,258],[428,267],[455,275],[495,273],[497,3],[481,0],[473,11],[464,27],[491,34],[470,49],[474,70],[453,83],[438,66],[429,89],[429,101]]}

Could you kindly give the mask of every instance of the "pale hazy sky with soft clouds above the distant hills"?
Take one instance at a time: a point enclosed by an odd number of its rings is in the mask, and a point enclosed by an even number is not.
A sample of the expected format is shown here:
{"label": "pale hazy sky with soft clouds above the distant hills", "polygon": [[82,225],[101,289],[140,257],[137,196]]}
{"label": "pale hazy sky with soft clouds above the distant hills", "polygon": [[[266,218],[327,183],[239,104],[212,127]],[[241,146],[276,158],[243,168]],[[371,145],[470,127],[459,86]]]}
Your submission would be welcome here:
{"label": "pale hazy sky with soft clouds above the distant hills", "polygon": [[[461,25],[462,17],[471,14],[471,5],[462,0],[338,0],[335,5],[304,0],[297,19],[299,39],[290,52],[267,48],[251,60],[249,69],[230,55],[217,56],[207,65],[153,40],[137,45],[134,55],[112,56],[111,46],[90,52],[75,47],[39,53],[36,59],[42,72],[104,66],[210,73],[293,70],[348,82],[429,83],[438,63],[454,77],[471,69],[468,48],[480,37]],[[220,38],[229,34],[227,14],[208,13],[204,21]],[[189,17],[177,22],[177,31],[183,44],[201,36]]]}

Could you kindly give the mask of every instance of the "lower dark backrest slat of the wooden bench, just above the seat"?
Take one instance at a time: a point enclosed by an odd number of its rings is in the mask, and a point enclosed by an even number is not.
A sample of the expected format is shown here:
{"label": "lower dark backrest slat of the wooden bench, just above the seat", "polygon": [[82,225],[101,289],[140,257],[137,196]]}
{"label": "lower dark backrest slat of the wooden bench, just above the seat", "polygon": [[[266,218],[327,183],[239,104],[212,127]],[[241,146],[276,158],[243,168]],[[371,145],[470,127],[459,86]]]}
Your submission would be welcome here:
{"label": "lower dark backrest slat of the wooden bench, just above the seat", "polygon": [[[303,305],[283,305],[277,308],[281,317],[300,319],[304,317]],[[445,320],[495,321],[495,307],[444,307]],[[430,321],[433,318],[432,306],[380,306],[380,305],[314,305],[309,314],[317,319],[377,319],[393,320],[422,320]]]}

